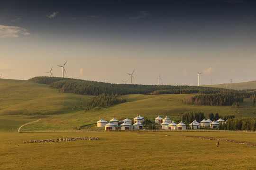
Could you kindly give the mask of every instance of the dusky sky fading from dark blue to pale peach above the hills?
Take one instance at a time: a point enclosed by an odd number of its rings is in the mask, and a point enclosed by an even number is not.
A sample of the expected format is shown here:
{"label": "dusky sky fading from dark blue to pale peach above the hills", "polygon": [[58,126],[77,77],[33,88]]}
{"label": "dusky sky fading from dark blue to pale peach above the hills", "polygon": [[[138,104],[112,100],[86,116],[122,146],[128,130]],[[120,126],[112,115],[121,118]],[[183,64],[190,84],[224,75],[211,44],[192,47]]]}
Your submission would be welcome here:
{"label": "dusky sky fading from dark blue to pale peach above the hills", "polygon": [[0,76],[200,85],[256,80],[255,0],[0,0]]}

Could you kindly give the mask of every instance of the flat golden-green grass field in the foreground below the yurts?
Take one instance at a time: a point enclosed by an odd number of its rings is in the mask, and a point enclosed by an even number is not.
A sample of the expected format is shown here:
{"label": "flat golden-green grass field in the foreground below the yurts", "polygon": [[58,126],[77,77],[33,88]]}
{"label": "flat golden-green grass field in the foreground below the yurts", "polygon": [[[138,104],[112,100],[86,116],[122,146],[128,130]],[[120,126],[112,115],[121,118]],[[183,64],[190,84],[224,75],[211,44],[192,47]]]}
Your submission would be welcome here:
{"label": "flat golden-green grass field in the foreground below the yurts", "polygon": [[[166,136],[169,135],[169,136]],[[255,133],[88,132],[0,133],[1,170],[255,170],[256,147],[180,135],[246,140]],[[23,143],[24,140],[99,137],[99,141]],[[12,144],[9,142],[12,141]]]}

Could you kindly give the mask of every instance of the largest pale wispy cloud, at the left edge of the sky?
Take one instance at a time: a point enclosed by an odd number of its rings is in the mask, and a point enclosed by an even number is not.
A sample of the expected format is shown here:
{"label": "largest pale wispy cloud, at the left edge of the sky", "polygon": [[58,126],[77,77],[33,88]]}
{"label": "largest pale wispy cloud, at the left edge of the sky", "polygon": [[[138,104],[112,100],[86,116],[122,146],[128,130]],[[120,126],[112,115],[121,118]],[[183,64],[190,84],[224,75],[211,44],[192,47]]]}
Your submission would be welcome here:
{"label": "largest pale wispy cloud, at the left edge of the sky", "polygon": [[26,29],[18,26],[4,26],[0,25],[0,37],[1,38],[15,38],[21,35],[29,35]]}

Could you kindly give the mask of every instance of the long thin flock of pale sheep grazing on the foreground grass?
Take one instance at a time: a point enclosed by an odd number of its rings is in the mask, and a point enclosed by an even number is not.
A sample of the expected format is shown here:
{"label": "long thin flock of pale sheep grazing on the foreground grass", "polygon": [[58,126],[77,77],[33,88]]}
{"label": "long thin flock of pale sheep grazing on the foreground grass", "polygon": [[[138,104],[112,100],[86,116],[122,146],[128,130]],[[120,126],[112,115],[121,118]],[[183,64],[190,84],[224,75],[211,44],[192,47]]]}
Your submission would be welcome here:
{"label": "long thin flock of pale sheep grazing on the foreground grass", "polygon": [[41,143],[41,142],[68,142],[68,141],[76,141],[76,140],[100,140],[98,137],[74,137],[74,138],[57,138],[55,139],[43,139],[43,140],[29,140],[23,141],[23,143]]}

